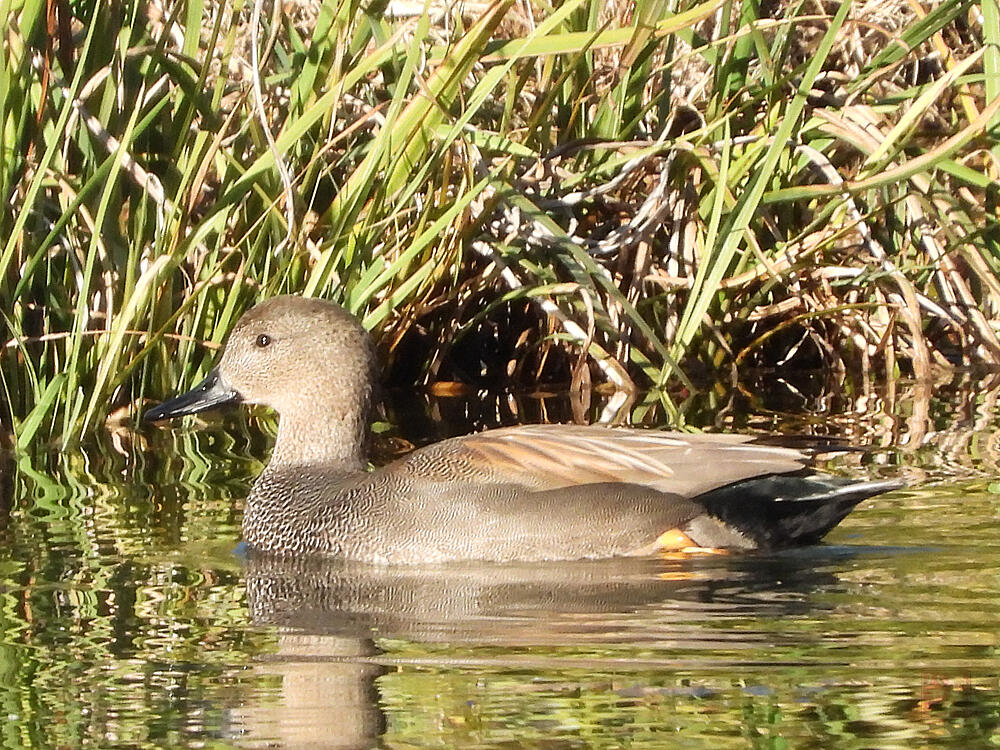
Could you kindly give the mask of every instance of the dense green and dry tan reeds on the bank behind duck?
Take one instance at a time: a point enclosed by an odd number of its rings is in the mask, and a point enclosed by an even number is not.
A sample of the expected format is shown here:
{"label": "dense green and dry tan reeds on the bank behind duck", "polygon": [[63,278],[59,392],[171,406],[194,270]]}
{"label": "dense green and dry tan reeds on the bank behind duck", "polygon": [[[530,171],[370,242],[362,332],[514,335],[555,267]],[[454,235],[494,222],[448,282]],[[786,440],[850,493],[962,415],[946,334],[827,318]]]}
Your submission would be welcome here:
{"label": "dense green and dry tan reeds on the bank behind duck", "polygon": [[996,0],[0,0],[18,446],[278,293],[395,382],[1000,364]]}

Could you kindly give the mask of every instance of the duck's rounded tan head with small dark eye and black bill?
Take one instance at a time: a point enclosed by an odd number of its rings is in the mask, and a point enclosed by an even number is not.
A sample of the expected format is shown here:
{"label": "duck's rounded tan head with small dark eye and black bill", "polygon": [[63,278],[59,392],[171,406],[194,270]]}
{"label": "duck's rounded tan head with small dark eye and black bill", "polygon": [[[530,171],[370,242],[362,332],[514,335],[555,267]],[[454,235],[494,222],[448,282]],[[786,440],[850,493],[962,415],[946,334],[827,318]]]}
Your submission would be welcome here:
{"label": "duck's rounded tan head with small dark eye and black bill", "polygon": [[275,297],[240,318],[219,364],[201,383],[144,419],[244,402],[271,407],[282,422],[366,422],[373,371],[370,339],[353,315],[325,300]]}

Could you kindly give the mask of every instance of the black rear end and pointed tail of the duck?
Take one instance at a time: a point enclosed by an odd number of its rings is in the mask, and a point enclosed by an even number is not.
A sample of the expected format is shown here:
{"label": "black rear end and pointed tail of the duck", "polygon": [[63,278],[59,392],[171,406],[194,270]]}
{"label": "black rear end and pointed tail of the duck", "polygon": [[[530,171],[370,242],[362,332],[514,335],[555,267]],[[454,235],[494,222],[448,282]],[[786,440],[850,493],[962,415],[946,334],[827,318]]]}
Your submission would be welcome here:
{"label": "black rear end and pointed tail of the duck", "polygon": [[895,479],[857,482],[798,472],[735,482],[695,502],[752,546],[776,549],[815,544],[862,500],[902,486]]}

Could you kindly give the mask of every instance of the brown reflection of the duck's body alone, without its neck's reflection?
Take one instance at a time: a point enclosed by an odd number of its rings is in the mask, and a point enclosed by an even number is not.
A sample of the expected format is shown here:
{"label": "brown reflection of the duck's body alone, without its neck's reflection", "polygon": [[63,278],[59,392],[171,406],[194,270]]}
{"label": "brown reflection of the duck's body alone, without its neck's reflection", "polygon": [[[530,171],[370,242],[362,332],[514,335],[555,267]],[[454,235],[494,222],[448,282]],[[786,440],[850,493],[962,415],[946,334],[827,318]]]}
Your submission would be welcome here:
{"label": "brown reflection of the duck's body alone, without its neck's reflection", "polygon": [[[830,585],[824,569],[848,548],[774,556],[688,560],[615,559],[544,564],[367,566],[252,555],[247,598],[255,622],[315,633],[370,633],[478,642],[483,630],[527,644],[561,645],[560,626],[579,615],[655,608],[677,624],[750,614],[780,617],[809,608],[809,591]],[[819,561],[819,566],[816,563]],[[530,624],[525,629],[525,621]]]}

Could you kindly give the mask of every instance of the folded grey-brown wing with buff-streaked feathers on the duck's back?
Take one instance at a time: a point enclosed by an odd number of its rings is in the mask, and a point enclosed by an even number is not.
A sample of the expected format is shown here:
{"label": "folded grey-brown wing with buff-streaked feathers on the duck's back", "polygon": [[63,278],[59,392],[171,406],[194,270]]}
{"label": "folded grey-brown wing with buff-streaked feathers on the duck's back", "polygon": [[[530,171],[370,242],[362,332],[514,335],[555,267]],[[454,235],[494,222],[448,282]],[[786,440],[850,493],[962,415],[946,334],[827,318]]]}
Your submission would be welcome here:
{"label": "folded grey-brown wing with buff-streaked feathers on the duck's back", "polygon": [[741,479],[797,471],[809,455],[751,435],[530,425],[445,440],[401,462],[424,480],[554,490],[627,483],[695,497]]}

